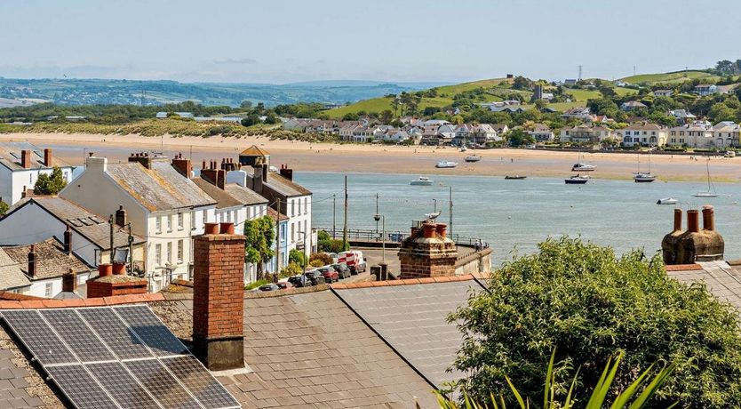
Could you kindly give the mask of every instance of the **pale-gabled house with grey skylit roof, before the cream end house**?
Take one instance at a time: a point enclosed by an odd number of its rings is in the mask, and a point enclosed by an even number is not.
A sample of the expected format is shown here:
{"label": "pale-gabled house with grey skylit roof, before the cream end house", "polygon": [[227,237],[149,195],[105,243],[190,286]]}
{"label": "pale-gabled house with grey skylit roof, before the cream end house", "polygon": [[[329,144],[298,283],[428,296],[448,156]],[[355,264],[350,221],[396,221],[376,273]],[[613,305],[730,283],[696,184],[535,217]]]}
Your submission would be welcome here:
{"label": "pale-gabled house with grey skylit roof, before the cream end house", "polygon": [[[129,235],[123,226],[125,214],[95,214],[62,197],[30,197],[20,201],[0,219],[0,245],[32,245],[50,237],[68,243],[72,253],[85,264],[97,268],[111,262],[111,225],[114,216],[113,246],[129,258]],[[22,231],[23,234],[18,234]],[[147,239],[131,235],[135,271],[143,272]]]}

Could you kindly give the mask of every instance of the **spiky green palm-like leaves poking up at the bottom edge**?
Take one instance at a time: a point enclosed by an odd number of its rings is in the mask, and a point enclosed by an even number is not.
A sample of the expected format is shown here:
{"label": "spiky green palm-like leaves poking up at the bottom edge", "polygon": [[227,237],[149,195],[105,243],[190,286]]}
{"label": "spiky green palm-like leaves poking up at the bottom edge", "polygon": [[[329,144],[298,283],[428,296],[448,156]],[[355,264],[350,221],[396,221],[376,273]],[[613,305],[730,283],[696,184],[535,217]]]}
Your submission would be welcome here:
{"label": "spiky green palm-like leaves poking up at the bottom edge", "polygon": [[[653,378],[649,379],[649,374],[652,372],[653,366],[650,365],[648,369],[643,371],[641,375],[633,381],[627,388],[618,394],[617,397],[612,401],[612,404],[608,402],[608,393],[612,382],[615,381],[615,376],[618,373],[618,366],[623,354],[619,353],[614,359],[610,358],[605,369],[602,371],[599,381],[594,386],[592,396],[586,402],[583,407],[585,409],[601,409],[610,407],[610,409],[639,409],[644,407],[649,399],[657,392],[658,388],[666,381],[669,375],[673,372],[675,365],[665,365],[661,370],[658,371]],[[555,394],[555,373],[554,373],[554,359],[555,350],[551,354],[551,360],[548,363],[548,371],[546,373],[546,385],[543,390],[543,408],[544,409],[570,409],[575,407],[577,404],[575,389],[578,380],[578,371],[574,375],[574,379],[571,381],[566,397],[560,400]],[[517,404],[520,405],[521,409],[530,409],[530,398],[522,397],[520,392],[514,386],[514,383],[506,378],[507,384],[512,391],[514,399]],[[642,390],[641,390],[642,389]],[[495,395],[490,394],[488,402],[475,402],[473,399],[464,396],[462,405],[459,405],[456,401],[450,400],[443,397],[442,394],[437,394],[437,400],[440,404],[441,409],[506,409],[506,399],[503,393]],[[676,404],[674,404],[676,405]],[[669,407],[673,407],[669,406]]]}

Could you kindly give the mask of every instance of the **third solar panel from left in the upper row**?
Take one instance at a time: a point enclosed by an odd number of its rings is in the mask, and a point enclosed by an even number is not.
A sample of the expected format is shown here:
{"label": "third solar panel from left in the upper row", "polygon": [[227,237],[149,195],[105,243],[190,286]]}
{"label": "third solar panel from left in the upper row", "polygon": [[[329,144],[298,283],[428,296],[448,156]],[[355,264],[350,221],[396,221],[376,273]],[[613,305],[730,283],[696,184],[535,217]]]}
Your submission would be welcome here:
{"label": "third solar panel from left in the upper row", "polygon": [[154,357],[113,309],[77,309],[77,312],[120,359]]}

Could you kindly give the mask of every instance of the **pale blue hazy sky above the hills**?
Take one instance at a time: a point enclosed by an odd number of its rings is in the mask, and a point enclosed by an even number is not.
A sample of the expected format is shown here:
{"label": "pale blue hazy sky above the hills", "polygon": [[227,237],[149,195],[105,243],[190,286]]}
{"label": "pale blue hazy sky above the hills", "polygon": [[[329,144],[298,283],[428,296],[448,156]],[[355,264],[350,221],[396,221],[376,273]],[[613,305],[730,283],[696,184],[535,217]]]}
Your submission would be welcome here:
{"label": "pale blue hazy sky above the hills", "polygon": [[2,0],[0,76],[616,79],[741,59],[738,0]]}

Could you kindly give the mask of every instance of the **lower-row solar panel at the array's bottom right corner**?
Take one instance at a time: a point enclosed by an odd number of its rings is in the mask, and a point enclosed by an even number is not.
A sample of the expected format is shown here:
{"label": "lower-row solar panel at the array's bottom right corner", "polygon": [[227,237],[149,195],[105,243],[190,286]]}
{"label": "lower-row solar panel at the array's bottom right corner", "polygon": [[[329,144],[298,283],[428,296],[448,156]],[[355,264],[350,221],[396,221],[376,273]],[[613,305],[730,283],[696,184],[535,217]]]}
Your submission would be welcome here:
{"label": "lower-row solar panel at the array's bottom right corner", "polygon": [[162,362],[206,409],[240,407],[227,389],[195,357],[169,357]]}

